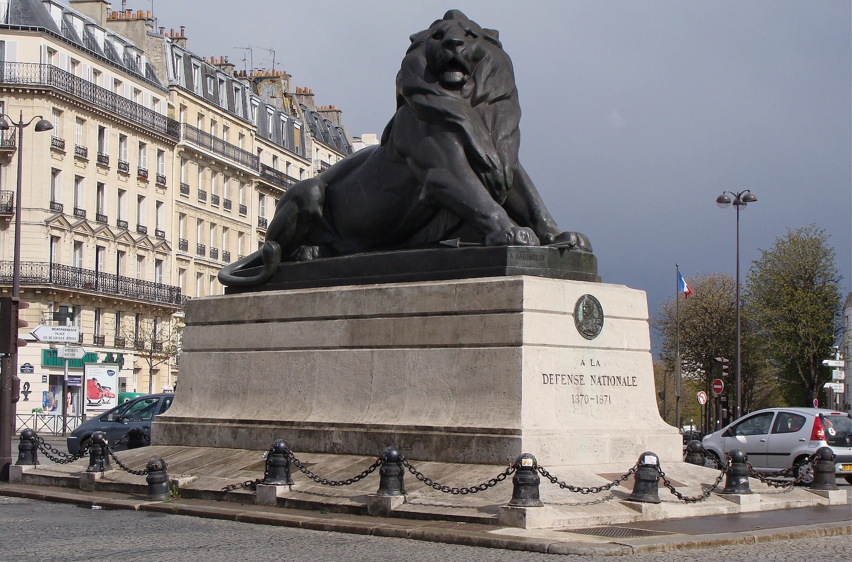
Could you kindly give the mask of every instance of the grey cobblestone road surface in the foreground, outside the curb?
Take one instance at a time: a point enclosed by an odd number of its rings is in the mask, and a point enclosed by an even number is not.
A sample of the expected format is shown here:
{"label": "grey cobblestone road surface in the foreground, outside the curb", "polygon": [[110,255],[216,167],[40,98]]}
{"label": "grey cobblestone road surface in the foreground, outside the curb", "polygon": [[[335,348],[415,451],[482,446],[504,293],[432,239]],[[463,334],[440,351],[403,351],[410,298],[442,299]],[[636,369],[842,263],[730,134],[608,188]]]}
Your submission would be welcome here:
{"label": "grey cobblestone road surface in the foreground, outside the curb", "polygon": [[852,559],[852,537],[763,542],[626,557],[557,556],[303,531],[181,515],[83,509],[66,504],[0,497],[0,559],[15,562],[269,559],[294,562],[377,559],[405,562],[557,562],[573,559],[631,562],[806,559],[809,562],[843,562]]}

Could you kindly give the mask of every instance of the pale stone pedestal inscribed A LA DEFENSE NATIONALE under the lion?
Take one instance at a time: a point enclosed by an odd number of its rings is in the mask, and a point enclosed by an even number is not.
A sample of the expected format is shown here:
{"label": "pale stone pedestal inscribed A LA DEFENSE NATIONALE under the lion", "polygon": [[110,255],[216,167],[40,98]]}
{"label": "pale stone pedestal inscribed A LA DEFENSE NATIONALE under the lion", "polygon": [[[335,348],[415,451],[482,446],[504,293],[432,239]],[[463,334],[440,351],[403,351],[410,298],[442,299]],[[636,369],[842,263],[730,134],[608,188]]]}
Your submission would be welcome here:
{"label": "pale stone pedestal inscribed A LA DEFENSE NATIONALE under the lion", "polygon": [[[587,339],[575,306],[594,296]],[[680,462],[659,417],[645,293],[526,275],[192,299],[153,444],[505,465]]]}

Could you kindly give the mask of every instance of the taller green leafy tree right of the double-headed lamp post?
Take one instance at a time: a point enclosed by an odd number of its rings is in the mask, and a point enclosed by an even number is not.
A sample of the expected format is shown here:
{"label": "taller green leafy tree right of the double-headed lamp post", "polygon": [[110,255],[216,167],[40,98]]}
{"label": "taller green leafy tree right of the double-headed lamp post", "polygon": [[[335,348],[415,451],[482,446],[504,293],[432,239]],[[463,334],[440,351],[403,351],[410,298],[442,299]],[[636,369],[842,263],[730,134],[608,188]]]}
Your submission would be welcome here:
{"label": "taller green leafy tree right of the double-headed lamp post", "polygon": [[747,275],[751,334],[761,340],[789,404],[810,406],[829,378],[821,362],[840,334],[841,279],[826,231],[815,224],[776,238]]}

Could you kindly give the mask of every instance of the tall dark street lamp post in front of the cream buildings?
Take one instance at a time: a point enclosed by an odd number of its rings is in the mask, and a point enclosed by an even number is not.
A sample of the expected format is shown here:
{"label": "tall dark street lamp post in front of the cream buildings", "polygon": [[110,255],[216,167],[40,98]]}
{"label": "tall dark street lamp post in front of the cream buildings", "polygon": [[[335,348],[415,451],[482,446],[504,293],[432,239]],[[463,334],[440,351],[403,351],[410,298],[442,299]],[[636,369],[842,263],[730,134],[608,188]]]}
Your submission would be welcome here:
{"label": "tall dark street lamp post in front of the cream buildings", "polygon": [[[14,262],[12,264],[12,298],[20,296],[20,194],[24,183],[24,129],[36,120],[35,130],[38,132],[49,131],[53,123],[44,119],[43,116],[35,116],[28,122],[24,122],[24,112],[20,112],[18,122],[12,120],[11,116],[0,113],[0,131],[8,131],[9,127],[18,129],[18,184],[14,193]],[[11,120],[11,123],[7,121]],[[14,326],[20,322],[17,318],[17,307],[14,307]],[[9,334],[9,354],[3,357],[2,368],[0,368],[0,480],[9,480],[9,466],[12,464],[12,438],[14,436],[14,394],[15,373],[18,371],[17,329]]]}

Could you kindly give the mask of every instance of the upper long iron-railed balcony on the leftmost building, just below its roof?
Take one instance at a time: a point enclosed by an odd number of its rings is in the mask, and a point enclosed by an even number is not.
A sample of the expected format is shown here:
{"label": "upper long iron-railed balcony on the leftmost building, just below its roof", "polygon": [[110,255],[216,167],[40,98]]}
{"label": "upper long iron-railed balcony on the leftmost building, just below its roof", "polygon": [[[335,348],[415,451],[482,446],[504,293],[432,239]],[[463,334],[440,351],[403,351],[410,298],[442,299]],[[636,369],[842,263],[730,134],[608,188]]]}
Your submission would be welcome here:
{"label": "upper long iron-railed balcony on the leftmost building, just below its roof", "polygon": [[160,115],[121,95],[113,94],[106,88],[96,86],[54,65],[4,62],[0,67],[0,82],[56,88],[102,110],[112,111],[142,127],[151,128],[172,139],[180,139],[180,123],[174,119]]}

